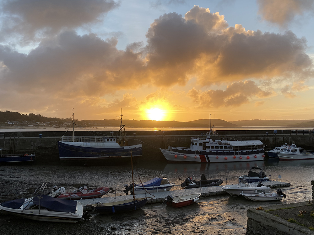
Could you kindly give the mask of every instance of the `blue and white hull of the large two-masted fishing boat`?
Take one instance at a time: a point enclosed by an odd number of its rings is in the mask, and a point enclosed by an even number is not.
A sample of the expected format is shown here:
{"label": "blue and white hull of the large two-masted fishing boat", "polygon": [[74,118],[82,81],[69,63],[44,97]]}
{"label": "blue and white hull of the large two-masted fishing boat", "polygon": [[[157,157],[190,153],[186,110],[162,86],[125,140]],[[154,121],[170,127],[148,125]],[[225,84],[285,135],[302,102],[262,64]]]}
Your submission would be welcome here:
{"label": "blue and white hull of the large two-masted fishing boat", "polygon": [[61,161],[108,160],[126,161],[142,156],[142,144],[129,146],[105,146],[103,143],[58,141],[59,159]]}

